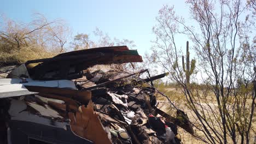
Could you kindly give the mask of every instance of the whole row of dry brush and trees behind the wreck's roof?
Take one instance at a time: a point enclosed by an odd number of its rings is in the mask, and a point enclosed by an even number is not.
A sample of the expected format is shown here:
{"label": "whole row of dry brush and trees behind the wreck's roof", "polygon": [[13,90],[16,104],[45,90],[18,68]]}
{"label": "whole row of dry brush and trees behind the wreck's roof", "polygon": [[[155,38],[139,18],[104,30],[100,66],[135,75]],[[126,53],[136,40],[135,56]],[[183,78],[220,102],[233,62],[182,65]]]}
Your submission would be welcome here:
{"label": "whole row of dry brush and trees behind the wreck's roof", "polygon": [[0,65],[20,64],[32,59],[53,57],[71,50],[92,47],[136,45],[133,40],[111,38],[96,28],[93,36],[78,33],[72,37],[71,28],[65,20],[48,20],[44,15],[33,14],[28,23],[18,22],[8,17],[0,17]]}

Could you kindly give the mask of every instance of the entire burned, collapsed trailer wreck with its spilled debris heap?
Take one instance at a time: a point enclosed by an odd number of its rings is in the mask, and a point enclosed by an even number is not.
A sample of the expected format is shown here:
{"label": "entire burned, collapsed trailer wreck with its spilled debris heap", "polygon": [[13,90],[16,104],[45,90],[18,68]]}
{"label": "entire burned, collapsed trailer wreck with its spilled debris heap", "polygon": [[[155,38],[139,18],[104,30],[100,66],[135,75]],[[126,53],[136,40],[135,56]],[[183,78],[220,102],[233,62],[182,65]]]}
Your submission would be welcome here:
{"label": "entire burned, collapsed trailer wreck with its spilled debris heap", "polygon": [[193,134],[183,111],[158,109],[153,80],[166,74],[91,69],[131,62],[142,62],[136,50],[112,46],[20,65],[0,79],[0,143],[179,143],[177,125]]}

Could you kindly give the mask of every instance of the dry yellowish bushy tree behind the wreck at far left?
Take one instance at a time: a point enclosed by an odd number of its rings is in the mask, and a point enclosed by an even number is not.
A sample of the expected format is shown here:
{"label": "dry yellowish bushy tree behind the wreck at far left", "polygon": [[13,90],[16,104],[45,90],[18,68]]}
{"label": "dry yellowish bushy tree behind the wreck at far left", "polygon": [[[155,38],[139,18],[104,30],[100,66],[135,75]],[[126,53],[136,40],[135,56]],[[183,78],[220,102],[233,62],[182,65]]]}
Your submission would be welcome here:
{"label": "dry yellowish bushy tree behind the wreck at far left", "polygon": [[49,21],[42,14],[33,16],[33,21],[30,23],[2,18],[1,63],[19,63],[28,59],[47,57],[47,55],[53,56],[50,53],[65,51],[65,44],[70,33],[65,22],[60,19]]}

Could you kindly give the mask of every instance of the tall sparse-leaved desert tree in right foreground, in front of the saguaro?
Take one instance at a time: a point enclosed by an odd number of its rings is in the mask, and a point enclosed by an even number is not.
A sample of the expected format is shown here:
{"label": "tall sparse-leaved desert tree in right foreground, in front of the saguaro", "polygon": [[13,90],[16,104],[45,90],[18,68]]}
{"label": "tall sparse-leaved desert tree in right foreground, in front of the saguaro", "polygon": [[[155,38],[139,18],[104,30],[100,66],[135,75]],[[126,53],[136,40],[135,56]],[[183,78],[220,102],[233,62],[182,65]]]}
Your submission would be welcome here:
{"label": "tall sparse-leaved desert tree in right foreground, in front of the saguaro", "polygon": [[[249,143],[255,121],[255,15],[243,1],[188,0],[191,20],[185,24],[173,7],[164,5],[156,17],[150,59],[170,73],[182,89],[192,113],[195,137],[206,143]],[[247,16],[243,16],[246,15]],[[196,69],[203,76],[185,80],[176,35],[188,35],[194,44]]]}

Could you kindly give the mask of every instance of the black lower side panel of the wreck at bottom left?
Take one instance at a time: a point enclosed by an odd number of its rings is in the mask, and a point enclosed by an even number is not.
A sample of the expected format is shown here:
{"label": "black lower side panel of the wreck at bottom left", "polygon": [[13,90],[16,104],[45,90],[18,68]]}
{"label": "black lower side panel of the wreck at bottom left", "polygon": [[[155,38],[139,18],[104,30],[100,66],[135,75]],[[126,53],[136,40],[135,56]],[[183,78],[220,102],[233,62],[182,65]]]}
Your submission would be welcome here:
{"label": "black lower side panel of the wreck at bottom left", "polygon": [[86,144],[92,143],[74,135],[69,125],[67,129],[51,127],[33,122],[11,120],[9,122],[12,144]]}

